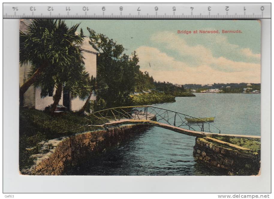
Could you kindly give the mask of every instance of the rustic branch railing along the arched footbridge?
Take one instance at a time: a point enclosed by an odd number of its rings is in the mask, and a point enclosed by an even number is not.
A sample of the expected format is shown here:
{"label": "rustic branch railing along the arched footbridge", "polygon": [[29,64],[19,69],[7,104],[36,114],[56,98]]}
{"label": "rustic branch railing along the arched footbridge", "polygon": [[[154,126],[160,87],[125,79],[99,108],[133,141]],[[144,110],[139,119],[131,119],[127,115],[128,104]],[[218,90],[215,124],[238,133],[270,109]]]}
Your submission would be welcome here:
{"label": "rustic branch railing along the arched footbridge", "polygon": [[[123,119],[153,120],[194,131],[211,133],[221,132],[215,125],[202,120],[201,118],[150,105],[108,108],[91,113],[85,118],[93,125],[100,125]],[[189,119],[192,119],[191,121],[193,122],[188,122]]]}

